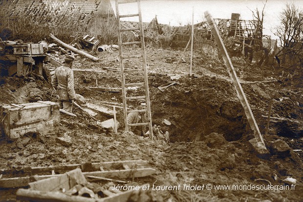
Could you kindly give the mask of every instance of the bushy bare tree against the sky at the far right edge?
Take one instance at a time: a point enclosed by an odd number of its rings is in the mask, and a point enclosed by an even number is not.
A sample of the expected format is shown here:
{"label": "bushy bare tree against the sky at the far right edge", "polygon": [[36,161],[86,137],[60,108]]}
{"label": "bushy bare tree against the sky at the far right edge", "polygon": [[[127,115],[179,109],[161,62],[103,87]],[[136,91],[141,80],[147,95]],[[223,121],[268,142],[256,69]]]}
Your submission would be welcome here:
{"label": "bushy bare tree against the sky at the far right edge", "polygon": [[[276,53],[290,65],[303,64],[303,12],[294,3],[287,3],[280,15],[280,25],[275,28],[275,35],[279,37],[281,50]],[[288,56],[288,58],[286,57]]]}

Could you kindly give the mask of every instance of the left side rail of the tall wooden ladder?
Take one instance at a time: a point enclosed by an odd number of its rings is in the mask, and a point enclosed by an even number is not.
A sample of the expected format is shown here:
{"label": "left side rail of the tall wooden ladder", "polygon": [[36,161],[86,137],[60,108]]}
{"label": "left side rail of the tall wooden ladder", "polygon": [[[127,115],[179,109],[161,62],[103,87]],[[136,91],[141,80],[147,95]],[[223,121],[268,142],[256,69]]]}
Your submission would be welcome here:
{"label": "left side rail of the tall wooden ladder", "polygon": [[122,54],[122,36],[121,36],[121,24],[120,24],[120,15],[119,15],[119,4],[118,0],[115,0],[116,4],[116,19],[118,25],[118,45],[119,45],[119,58],[120,58],[120,68],[121,68],[121,91],[123,98],[123,115],[124,115],[124,124],[125,131],[129,131],[128,122],[127,122],[127,103],[126,103],[126,91],[125,91],[125,76],[124,76],[124,64],[123,64],[123,54]]}

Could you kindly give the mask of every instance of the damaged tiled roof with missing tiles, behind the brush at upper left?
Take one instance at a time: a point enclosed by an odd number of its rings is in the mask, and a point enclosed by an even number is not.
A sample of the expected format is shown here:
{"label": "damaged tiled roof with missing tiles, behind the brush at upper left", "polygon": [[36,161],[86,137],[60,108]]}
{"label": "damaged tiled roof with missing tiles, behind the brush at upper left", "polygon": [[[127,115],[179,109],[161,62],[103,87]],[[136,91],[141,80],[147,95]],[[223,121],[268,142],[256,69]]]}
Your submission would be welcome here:
{"label": "damaged tiled roof with missing tiles, behind the brush at upper left", "polygon": [[87,25],[94,16],[113,17],[109,0],[1,0],[0,19],[25,17],[48,25],[68,20]]}

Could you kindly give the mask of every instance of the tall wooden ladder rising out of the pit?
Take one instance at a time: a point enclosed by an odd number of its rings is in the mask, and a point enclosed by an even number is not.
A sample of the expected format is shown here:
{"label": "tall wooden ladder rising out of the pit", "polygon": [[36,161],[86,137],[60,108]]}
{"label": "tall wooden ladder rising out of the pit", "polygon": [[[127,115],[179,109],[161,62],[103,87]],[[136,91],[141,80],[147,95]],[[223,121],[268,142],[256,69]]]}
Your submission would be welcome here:
{"label": "tall wooden ladder rising out of the pit", "polygon": [[[119,5],[125,4],[125,3],[137,3],[138,4],[138,13],[137,14],[129,14],[129,15],[120,15],[119,14]],[[146,67],[146,54],[145,54],[145,45],[144,45],[144,32],[143,32],[143,23],[142,23],[142,16],[141,16],[141,6],[140,6],[140,0],[115,0],[116,4],[116,18],[117,18],[117,24],[118,24],[118,43],[119,43],[119,56],[120,56],[120,68],[121,68],[121,84],[122,84],[122,97],[123,97],[123,111],[124,111],[124,122],[125,122],[125,131],[128,131],[129,126],[144,126],[148,125],[150,130],[150,138],[153,139],[152,135],[152,125],[151,125],[151,105],[150,105],[150,93],[149,93],[149,84],[148,84],[148,76],[147,76],[147,67]],[[122,6],[122,5],[120,5]],[[139,27],[134,28],[121,28],[120,19],[121,18],[128,18],[128,17],[138,17],[139,18]],[[139,31],[140,33],[140,40],[139,42],[122,42],[122,32],[127,31]],[[142,53],[140,55],[123,55],[123,45],[140,45]],[[125,69],[124,68],[124,61],[125,59],[139,59],[142,58],[142,68],[136,68],[136,69]],[[131,72],[142,72],[144,75],[144,82],[137,82],[137,83],[125,83],[125,74],[131,73]],[[141,96],[132,96],[127,97],[126,90],[127,87],[142,87],[145,88],[145,95]],[[127,100],[135,100],[135,99],[145,99],[146,100],[146,106],[147,109],[144,110],[128,110],[127,109]],[[146,112],[148,116],[148,122],[146,123],[134,123],[134,124],[128,124],[127,121],[127,114],[129,112]]]}

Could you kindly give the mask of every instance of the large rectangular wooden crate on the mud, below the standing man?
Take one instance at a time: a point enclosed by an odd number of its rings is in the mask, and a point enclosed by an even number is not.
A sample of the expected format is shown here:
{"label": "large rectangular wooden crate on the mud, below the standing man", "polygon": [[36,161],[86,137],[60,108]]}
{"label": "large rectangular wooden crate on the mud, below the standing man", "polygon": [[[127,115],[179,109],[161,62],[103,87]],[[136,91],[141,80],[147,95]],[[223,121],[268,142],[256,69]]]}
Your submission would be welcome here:
{"label": "large rectangular wooden crate on the mud, below the standing man", "polygon": [[20,105],[5,105],[0,108],[4,134],[16,139],[28,132],[41,135],[59,131],[59,104],[50,101],[38,101]]}

